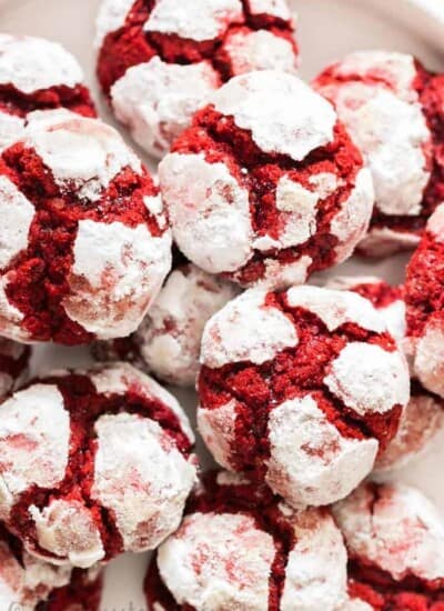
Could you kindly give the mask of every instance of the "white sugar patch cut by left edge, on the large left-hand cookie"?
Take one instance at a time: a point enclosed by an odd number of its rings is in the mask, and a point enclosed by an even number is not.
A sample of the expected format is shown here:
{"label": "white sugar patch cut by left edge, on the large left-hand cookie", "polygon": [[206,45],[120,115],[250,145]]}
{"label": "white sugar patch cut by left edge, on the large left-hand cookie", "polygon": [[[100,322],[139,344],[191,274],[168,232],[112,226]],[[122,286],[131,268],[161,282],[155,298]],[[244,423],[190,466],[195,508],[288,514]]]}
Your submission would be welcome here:
{"label": "white sugar patch cut by left edge, on the large left-hand cookie", "polygon": [[0,176],[0,268],[28,247],[36,209],[6,176]]}

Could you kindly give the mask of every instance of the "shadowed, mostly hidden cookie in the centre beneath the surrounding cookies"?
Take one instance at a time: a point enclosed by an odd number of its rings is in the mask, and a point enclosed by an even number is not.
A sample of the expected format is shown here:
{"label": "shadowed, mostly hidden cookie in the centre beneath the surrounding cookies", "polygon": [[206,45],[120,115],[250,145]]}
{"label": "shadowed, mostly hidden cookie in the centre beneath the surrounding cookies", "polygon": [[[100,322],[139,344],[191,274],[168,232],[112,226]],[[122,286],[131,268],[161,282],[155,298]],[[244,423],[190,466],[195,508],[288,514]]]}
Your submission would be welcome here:
{"label": "shadowed, mostly hidden cookie in the centre beneath the surrounding cookies", "polygon": [[164,382],[193,387],[205,322],[236,294],[234,284],[192,263],[171,272],[139,329],[93,345],[100,361],[135,363]]}

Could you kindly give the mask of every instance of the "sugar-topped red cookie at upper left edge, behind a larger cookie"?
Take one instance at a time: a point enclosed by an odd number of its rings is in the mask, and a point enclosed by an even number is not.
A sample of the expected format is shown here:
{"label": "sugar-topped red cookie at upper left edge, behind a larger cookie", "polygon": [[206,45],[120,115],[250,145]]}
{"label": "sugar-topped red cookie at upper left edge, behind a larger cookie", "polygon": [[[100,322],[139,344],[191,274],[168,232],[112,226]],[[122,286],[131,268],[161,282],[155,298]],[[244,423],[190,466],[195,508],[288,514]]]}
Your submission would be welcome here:
{"label": "sugar-topped red cookie at upper left edge, behind a larger cookie", "polygon": [[0,151],[21,138],[33,112],[60,108],[95,116],[73,56],[57,42],[0,34]]}

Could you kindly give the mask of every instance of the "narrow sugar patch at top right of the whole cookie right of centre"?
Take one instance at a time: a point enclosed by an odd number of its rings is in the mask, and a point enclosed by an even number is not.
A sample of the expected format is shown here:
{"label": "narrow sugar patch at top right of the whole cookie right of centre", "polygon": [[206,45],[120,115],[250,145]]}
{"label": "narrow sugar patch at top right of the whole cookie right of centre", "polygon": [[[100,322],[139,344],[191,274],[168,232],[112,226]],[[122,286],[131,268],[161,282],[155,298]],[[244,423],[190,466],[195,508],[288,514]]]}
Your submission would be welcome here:
{"label": "narrow sugar patch at top right of the whole cookie right of centre", "polygon": [[289,289],[286,300],[291,308],[303,308],[316,314],[329,331],[346,323],[375,333],[385,330],[382,317],[370,301],[356,293],[304,286]]}

